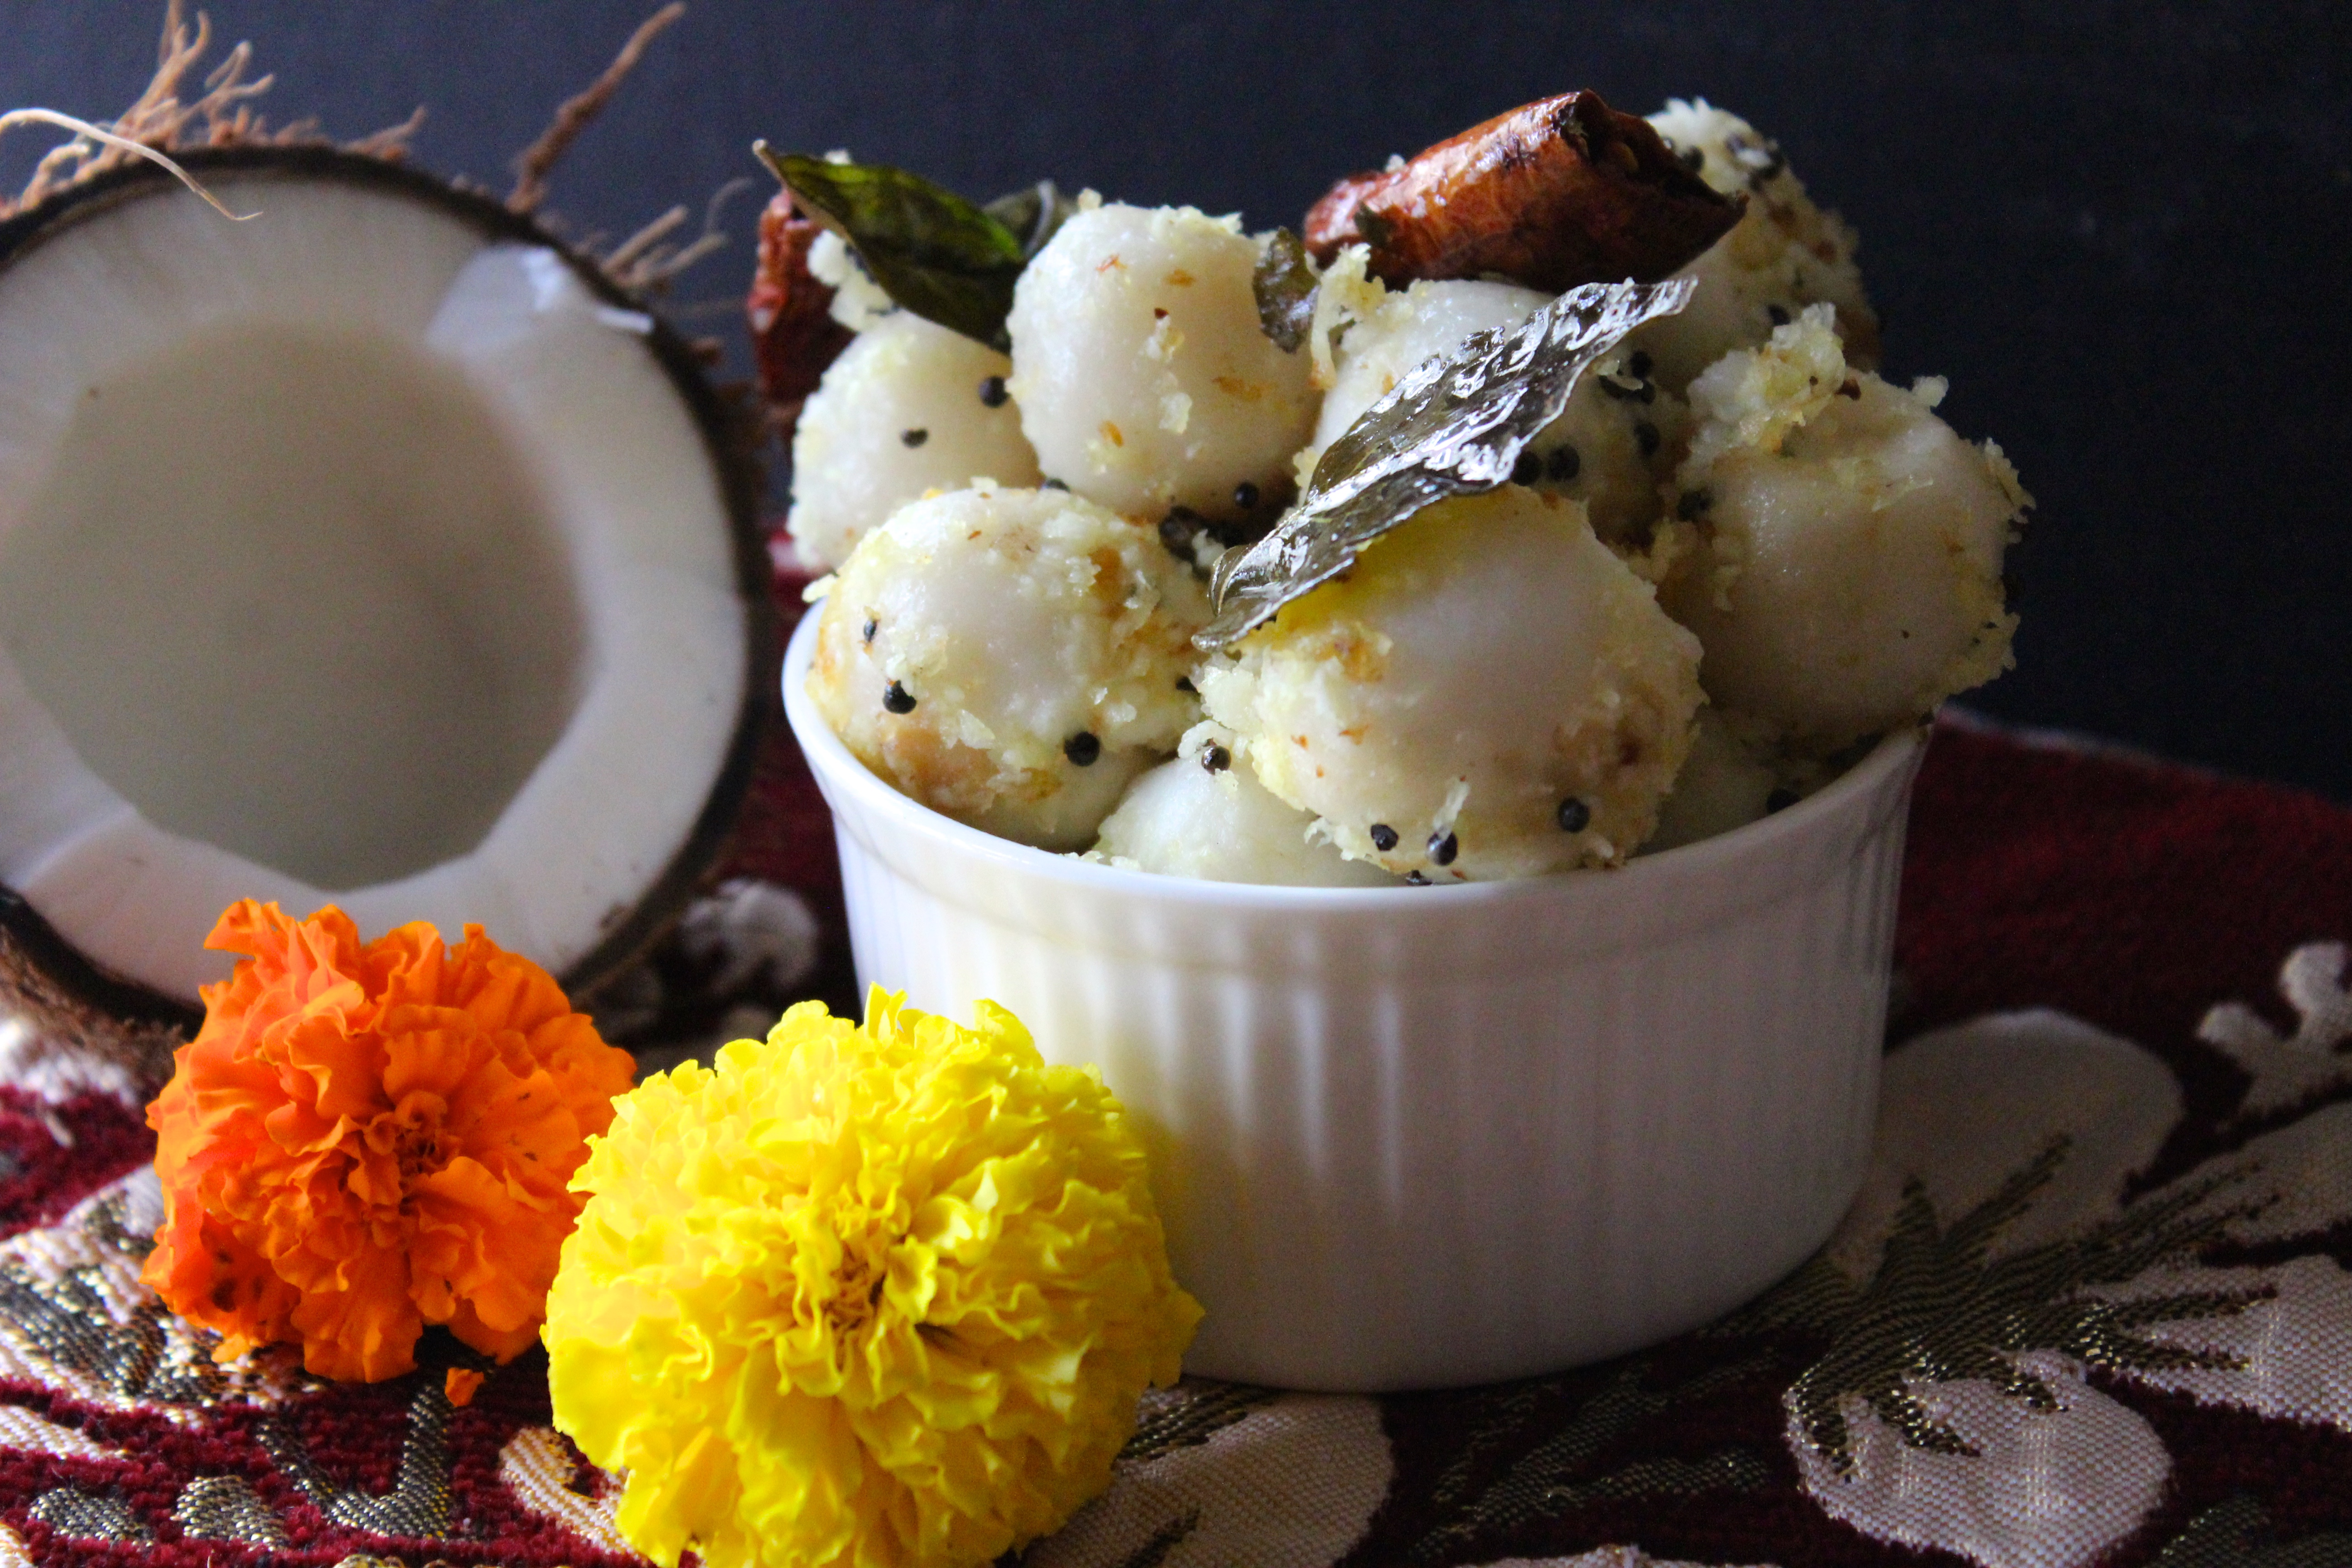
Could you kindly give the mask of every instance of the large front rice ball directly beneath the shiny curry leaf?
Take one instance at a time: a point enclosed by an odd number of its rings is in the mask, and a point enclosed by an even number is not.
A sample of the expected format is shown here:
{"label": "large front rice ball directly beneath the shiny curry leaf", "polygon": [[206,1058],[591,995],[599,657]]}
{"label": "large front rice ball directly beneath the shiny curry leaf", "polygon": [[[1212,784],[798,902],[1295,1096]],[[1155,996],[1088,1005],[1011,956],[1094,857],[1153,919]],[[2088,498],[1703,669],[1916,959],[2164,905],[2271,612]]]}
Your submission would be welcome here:
{"label": "large front rice ball directly beneath the shiny curry leaf", "polygon": [[1578,503],[1505,484],[1425,508],[1195,679],[1258,783],[1437,882],[1623,860],[1691,745],[1696,670]]}

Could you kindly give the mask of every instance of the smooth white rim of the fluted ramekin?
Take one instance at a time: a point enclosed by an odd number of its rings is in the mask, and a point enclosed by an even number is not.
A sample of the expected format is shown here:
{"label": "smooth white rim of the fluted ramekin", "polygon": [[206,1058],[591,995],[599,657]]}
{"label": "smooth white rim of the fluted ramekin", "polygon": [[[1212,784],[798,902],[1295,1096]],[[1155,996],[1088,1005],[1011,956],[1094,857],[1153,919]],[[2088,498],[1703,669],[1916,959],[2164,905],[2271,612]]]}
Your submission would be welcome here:
{"label": "smooth white rim of the fluted ramekin", "polygon": [[[1635,856],[1625,860],[1625,865],[1616,867],[1583,867],[1503,882],[1432,882],[1428,886],[1399,882],[1392,889],[1209,882],[1202,877],[1171,877],[1164,872],[1103,865],[1101,860],[1087,860],[1077,853],[1033,849],[1014,839],[1000,839],[981,827],[957,823],[910,795],[901,795],[882,776],[858,762],[842,738],[833,733],[833,724],[826,722],[826,717],[816,710],[816,701],[807,693],[807,672],[816,656],[816,635],[823,611],[823,597],[809,599],[807,611],[800,616],[800,625],[793,628],[793,637],[786,644],[781,679],[786,722],[793,729],[793,738],[800,743],[802,757],[809,762],[809,771],[816,776],[818,790],[828,797],[828,806],[833,804],[833,790],[847,790],[854,797],[858,813],[866,818],[906,832],[910,839],[943,842],[969,860],[990,863],[1021,877],[1058,882],[1091,893],[1127,893],[1162,903],[1211,905],[1228,910],[1301,914],[1343,910],[1378,912],[1390,907],[1428,910],[1432,905],[1468,910],[1477,905],[1559,893],[1566,889],[1595,891],[1599,886],[1597,879],[1602,877],[1606,877],[1609,884],[1625,889],[1628,896],[1651,886],[1663,891],[1665,884],[1675,884],[1693,875],[1712,877],[1719,872],[1736,872],[1738,863],[1755,853],[1776,856],[1780,849],[1792,849],[1797,842],[1816,837],[1816,832],[1828,825],[1828,818],[1849,813],[1858,804],[1856,797],[1867,799],[1882,792],[1891,776],[1907,771],[1917,762],[1929,741],[1929,731],[1933,729],[1933,715],[1919,724],[1891,729],[1853,766],[1797,804],[1773,811],[1771,816],[1748,823],[1745,827],[1733,827],[1731,832],[1719,832],[1677,849],[1663,849],[1653,856]],[[1900,797],[1896,809],[1900,809]]]}

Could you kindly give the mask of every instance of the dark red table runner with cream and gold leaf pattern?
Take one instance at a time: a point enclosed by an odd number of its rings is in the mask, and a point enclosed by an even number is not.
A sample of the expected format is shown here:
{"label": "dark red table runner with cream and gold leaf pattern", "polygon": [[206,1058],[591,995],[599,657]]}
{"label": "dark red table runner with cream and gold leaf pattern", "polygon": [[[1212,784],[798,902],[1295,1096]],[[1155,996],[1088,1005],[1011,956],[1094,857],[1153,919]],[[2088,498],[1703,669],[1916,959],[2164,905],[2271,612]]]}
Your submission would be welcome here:
{"label": "dark red table runner with cream and gold leaf pattern", "polygon": [[[600,1013],[847,1009],[823,804],[779,736],[734,882]],[[1879,1147],[1731,1319],[1555,1378],[1152,1394],[1018,1561],[2352,1563],[2352,813],[1945,724],[1919,778]],[[139,1091],[0,1023],[0,1566],[635,1563],[546,1361],[223,1371],[136,1284]]]}

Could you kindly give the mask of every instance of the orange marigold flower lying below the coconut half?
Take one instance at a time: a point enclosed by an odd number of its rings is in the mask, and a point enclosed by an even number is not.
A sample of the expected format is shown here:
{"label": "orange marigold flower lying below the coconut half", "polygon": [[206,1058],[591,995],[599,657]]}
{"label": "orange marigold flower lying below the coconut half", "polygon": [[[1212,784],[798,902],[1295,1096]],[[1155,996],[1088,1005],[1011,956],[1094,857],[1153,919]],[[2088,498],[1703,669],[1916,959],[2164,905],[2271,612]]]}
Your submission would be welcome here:
{"label": "orange marigold flower lying below the coconut half", "polygon": [[247,898],[205,945],[252,957],[205,987],[148,1105],[148,1286],[216,1328],[223,1361],[299,1340],[313,1373],[376,1382],[416,1366],[426,1324],[517,1356],[630,1056],[480,926],[362,945],[332,905],[292,922]]}

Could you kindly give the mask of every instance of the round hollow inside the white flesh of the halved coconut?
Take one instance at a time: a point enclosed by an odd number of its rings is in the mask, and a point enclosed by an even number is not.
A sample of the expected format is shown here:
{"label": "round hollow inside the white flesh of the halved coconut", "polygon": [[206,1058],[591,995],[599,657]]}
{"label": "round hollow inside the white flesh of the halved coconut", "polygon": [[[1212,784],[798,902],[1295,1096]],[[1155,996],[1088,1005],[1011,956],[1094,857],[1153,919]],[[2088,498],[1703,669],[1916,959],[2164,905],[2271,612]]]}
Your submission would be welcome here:
{"label": "round hollow inside the white flesh of the halved coconut", "polygon": [[0,541],[0,646],[82,762],[322,889],[480,844],[572,717],[579,642],[513,440],[376,331],[228,322],[92,378]]}

